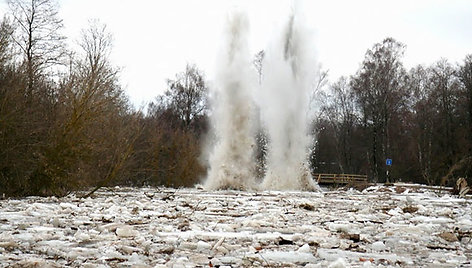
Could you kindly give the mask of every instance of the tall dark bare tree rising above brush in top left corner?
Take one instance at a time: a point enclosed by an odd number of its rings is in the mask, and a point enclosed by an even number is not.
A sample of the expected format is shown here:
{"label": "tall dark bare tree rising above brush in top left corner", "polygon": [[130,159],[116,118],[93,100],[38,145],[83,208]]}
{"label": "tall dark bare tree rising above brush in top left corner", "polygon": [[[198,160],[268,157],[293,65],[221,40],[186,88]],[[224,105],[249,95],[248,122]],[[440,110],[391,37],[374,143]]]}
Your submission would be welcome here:
{"label": "tall dark bare tree rising above brush in top left corner", "polygon": [[31,94],[36,79],[66,55],[63,27],[54,0],[8,0],[16,34],[14,41],[23,55]]}

